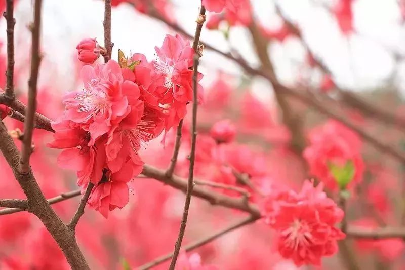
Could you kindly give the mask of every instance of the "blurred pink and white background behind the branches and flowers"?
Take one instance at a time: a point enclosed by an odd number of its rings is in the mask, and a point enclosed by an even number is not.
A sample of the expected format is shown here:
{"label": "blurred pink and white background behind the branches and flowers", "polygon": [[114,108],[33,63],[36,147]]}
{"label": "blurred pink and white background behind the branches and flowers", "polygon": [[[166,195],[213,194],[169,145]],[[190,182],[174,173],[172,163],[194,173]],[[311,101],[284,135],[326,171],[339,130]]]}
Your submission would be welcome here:
{"label": "blurred pink and white background behind the branches and flowers", "polygon": [[[4,9],[4,1],[0,0],[0,9]],[[193,35],[198,0],[149,1],[158,7],[160,19],[150,16],[151,10],[143,2],[148,1],[113,1],[113,59],[117,60],[117,51],[121,49],[127,55],[142,53],[148,61],[154,60],[154,47],[161,46],[166,34],[178,32],[165,21]],[[252,20],[279,82],[309,95],[397,151],[405,150],[405,3],[402,0],[251,0],[250,4]],[[63,109],[62,94],[81,87],[78,72],[82,63],[77,60],[76,45],[86,37],[96,37],[103,43],[103,16],[101,0],[44,0],[41,41],[44,59],[39,74],[38,111],[50,119],[56,119]],[[201,41],[264,70],[251,25],[215,16],[208,13],[206,26],[210,29],[204,27]],[[32,20],[32,1],[16,1],[15,18],[15,85],[19,99],[24,101],[30,64],[27,25]],[[0,74],[6,70],[5,45],[6,21],[2,17]],[[309,137],[314,128],[331,120],[307,104],[282,95],[281,99],[287,100],[294,112],[291,119],[295,124],[286,123],[288,117],[280,108],[280,98],[266,79],[252,76],[208,46],[203,54],[199,71],[204,74],[200,83],[205,88],[205,104],[198,112],[197,177],[236,185],[235,179],[225,179],[223,166],[218,165],[221,159],[238,172],[248,174],[262,189],[282,185],[299,190],[303,180],[313,176],[302,151],[311,144]],[[101,63],[102,59],[98,61]],[[4,85],[5,76],[0,76],[0,87]],[[188,172],[189,116],[185,120],[175,171],[183,177]],[[236,138],[217,144],[210,130],[217,121],[225,119],[235,127]],[[5,122],[9,130],[23,127],[12,119]],[[141,152],[145,163],[166,168],[174,136],[172,130],[165,142],[163,137],[154,139]],[[350,190],[349,224],[374,228],[405,223],[404,164],[389,153],[382,153],[362,136],[358,137],[362,141],[365,169],[360,183]],[[47,198],[77,189],[74,173],[59,169],[58,152],[46,147],[51,140],[48,132],[35,130],[32,167]],[[4,159],[0,159],[0,173],[0,197],[23,199]],[[134,179],[130,186],[130,203],[126,207],[112,211],[108,219],[89,208],[77,226],[79,245],[92,269],[136,269],[173,250],[184,194],[147,178]],[[239,196],[229,190],[215,190]],[[334,190],[330,191],[334,196]],[[54,209],[68,221],[78,200],[55,204]],[[244,215],[193,198],[184,242],[209,236]],[[46,229],[29,213],[0,216],[0,239],[0,269],[68,268]],[[401,239],[350,240],[349,244],[361,269],[405,269],[405,242]],[[295,266],[278,255],[274,232],[261,221],[195,252],[205,264],[219,269],[347,268],[339,254],[323,259],[321,267]],[[154,269],[166,268],[167,264],[161,264]]]}

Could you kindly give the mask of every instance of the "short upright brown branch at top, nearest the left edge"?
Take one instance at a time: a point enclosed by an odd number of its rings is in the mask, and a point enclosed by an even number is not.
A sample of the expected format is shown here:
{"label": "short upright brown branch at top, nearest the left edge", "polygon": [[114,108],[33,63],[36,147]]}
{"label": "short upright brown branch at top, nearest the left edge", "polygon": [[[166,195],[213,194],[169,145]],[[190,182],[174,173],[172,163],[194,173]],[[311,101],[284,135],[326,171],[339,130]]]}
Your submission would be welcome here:
{"label": "short upright brown branch at top, nearest the left edge", "polygon": [[6,0],[6,11],[3,16],[6,18],[7,22],[7,71],[6,71],[6,91],[5,96],[9,101],[15,99],[14,94],[14,25],[16,20],[13,17],[14,1]]}

